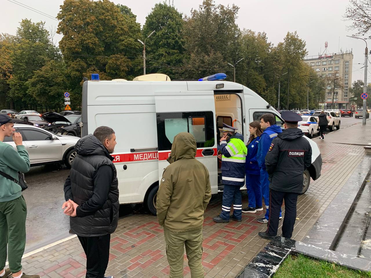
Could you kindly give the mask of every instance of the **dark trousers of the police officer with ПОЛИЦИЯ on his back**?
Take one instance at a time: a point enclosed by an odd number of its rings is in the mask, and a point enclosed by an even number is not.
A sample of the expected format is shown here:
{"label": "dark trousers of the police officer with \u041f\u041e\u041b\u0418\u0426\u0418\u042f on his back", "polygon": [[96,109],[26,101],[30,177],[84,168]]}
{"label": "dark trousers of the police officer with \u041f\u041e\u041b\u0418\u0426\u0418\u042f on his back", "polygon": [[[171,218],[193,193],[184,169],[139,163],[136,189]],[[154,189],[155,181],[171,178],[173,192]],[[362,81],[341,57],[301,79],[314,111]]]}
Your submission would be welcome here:
{"label": "dark trousers of the police officer with \u041f\u041e\u041b\u0418\u0426\u0418\u042f on his back", "polygon": [[298,201],[298,193],[280,192],[270,190],[269,204],[269,221],[267,233],[270,236],[276,236],[279,222],[279,212],[281,210],[282,201],[285,200],[285,217],[283,218],[282,236],[291,238],[296,219],[296,202]]}

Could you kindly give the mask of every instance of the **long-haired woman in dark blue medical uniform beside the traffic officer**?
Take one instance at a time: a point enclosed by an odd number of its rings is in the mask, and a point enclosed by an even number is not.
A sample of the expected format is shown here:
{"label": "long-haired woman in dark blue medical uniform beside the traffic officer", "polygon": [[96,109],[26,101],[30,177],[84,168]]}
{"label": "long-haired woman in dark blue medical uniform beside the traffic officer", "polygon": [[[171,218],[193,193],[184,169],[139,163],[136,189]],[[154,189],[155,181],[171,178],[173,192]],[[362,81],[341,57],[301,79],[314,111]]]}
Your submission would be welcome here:
{"label": "long-haired woman in dark blue medical uniform beside the traffic officer", "polygon": [[257,121],[249,124],[250,138],[247,142],[247,155],[246,155],[246,188],[247,195],[249,196],[249,206],[242,209],[244,213],[253,213],[262,211],[262,187],[260,185],[260,169],[257,164],[257,144],[259,143],[260,135],[263,131],[260,128],[260,123]]}

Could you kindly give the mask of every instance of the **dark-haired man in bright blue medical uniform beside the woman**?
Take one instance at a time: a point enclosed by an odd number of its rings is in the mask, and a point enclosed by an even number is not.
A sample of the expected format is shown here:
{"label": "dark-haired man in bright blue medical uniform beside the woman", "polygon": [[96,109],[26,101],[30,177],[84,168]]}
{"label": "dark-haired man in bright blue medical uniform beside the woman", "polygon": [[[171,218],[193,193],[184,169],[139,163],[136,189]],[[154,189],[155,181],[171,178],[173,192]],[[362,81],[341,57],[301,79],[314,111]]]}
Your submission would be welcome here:
{"label": "dark-haired man in bright blue medical uniform beside the woman", "polygon": [[[264,198],[265,207],[267,209],[263,218],[257,219],[257,222],[268,223],[269,220],[269,175],[265,168],[265,156],[269,150],[270,144],[272,144],[273,138],[276,138],[279,133],[282,132],[278,125],[275,125],[276,118],[272,113],[264,114],[260,117],[260,127],[263,130],[260,135],[260,141],[258,144],[256,159],[260,168],[260,183],[262,185],[262,195]],[[279,219],[282,218],[281,212]]]}

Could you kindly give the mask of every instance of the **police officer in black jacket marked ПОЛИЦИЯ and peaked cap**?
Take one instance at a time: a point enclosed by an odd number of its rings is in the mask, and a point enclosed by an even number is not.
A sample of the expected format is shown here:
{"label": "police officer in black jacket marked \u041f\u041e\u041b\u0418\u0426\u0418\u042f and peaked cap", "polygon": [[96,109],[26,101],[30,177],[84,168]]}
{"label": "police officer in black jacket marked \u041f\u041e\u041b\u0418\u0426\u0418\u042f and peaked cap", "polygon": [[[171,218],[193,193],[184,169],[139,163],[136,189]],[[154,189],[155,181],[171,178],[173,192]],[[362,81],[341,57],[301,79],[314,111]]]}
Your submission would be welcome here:
{"label": "police officer in black jacket marked \u041f\u041e\u041b\u0418\u0426\u0418\u042f and peaked cap", "polygon": [[268,227],[259,236],[273,239],[277,235],[279,211],[285,200],[282,236],[291,238],[296,219],[296,202],[303,188],[303,173],[312,163],[312,148],[298,128],[301,116],[292,111],[282,112],[285,130],[269,147],[265,165],[269,174],[270,215]]}

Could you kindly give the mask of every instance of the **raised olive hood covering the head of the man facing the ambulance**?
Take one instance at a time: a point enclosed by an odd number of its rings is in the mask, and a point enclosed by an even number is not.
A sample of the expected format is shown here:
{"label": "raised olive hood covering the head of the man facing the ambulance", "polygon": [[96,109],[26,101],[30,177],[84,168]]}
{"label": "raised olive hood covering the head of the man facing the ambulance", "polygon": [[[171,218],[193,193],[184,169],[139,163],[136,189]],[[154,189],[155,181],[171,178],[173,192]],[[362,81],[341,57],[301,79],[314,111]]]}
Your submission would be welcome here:
{"label": "raised olive hood covering the head of the man facing the ambulance", "polygon": [[196,139],[191,133],[181,132],[174,137],[171,153],[167,161],[171,164],[179,159],[190,159],[196,156]]}

